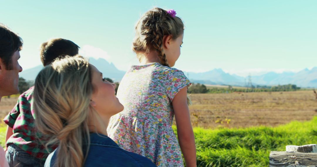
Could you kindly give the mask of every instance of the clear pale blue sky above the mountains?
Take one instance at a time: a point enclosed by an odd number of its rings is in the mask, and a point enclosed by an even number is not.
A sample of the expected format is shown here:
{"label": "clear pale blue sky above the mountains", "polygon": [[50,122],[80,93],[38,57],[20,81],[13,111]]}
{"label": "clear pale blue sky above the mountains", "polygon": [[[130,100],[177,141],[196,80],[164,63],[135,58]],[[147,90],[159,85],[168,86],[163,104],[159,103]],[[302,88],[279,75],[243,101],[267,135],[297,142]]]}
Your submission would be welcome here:
{"label": "clear pale blue sky above the mountains", "polygon": [[222,68],[246,76],[300,71],[317,62],[316,0],[1,1],[0,22],[23,38],[20,65],[40,65],[39,46],[50,38],[74,41],[80,53],[107,59],[120,70],[138,64],[131,50],[134,25],[153,7],[175,9],[184,44],[175,67]]}

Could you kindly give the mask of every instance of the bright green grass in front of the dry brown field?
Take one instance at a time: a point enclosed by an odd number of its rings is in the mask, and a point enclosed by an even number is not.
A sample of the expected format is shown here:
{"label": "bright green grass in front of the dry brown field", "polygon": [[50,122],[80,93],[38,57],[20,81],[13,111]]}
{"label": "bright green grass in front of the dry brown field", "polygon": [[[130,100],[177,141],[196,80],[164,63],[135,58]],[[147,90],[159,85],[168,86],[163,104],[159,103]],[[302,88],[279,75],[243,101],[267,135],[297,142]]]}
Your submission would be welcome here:
{"label": "bright green grass in front of the dry brown field", "polygon": [[[194,133],[199,167],[263,167],[269,164],[270,151],[285,151],[286,145],[316,144],[317,117],[278,127],[212,130],[195,127]],[[4,135],[5,127],[0,127],[2,146]]]}

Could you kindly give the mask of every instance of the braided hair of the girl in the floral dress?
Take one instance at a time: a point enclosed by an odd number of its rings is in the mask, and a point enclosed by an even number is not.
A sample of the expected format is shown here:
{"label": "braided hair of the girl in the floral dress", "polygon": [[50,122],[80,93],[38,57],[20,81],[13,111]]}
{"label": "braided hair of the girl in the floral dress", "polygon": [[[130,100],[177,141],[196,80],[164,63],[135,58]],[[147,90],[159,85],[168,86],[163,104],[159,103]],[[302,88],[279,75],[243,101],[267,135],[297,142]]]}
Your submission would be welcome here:
{"label": "braided hair of the girl in the floral dress", "polygon": [[183,34],[184,23],[182,19],[177,16],[171,17],[164,9],[153,8],[141,16],[135,30],[136,34],[132,43],[133,51],[149,53],[155,50],[161,64],[169,66],[163,50],[163,37],[171,35],[172,39],[175,40]]}

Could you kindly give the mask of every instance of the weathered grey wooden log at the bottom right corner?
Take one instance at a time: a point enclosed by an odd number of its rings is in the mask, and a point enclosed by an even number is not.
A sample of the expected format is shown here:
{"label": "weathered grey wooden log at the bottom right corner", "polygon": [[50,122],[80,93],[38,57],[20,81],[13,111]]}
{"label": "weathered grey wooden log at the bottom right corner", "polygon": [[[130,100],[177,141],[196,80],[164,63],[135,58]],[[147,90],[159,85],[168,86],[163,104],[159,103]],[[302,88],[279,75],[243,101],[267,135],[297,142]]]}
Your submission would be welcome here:
{"label": "weathered grey wooden log at the bottom right corner", "polygon": [[317,167],[317,153],[270,152],[270,167]]}

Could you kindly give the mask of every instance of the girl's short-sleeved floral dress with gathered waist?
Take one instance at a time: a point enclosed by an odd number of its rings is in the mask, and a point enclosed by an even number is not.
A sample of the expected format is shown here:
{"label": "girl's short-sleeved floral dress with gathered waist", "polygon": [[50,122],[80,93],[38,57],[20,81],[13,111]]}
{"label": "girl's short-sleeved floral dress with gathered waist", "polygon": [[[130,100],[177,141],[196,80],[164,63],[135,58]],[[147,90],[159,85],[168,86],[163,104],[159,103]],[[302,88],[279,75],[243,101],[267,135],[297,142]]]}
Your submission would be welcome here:
{"label": "girl's short-sleeved floral dress with gathered waist", "polygon": [[113,115],[108,136],[121,148],[143,155],[157,166],[183,166],[171,128],[174,96],[191,82],[175,68],[152,63],[133,65],[122,78],[117,97],[124,110]]}

